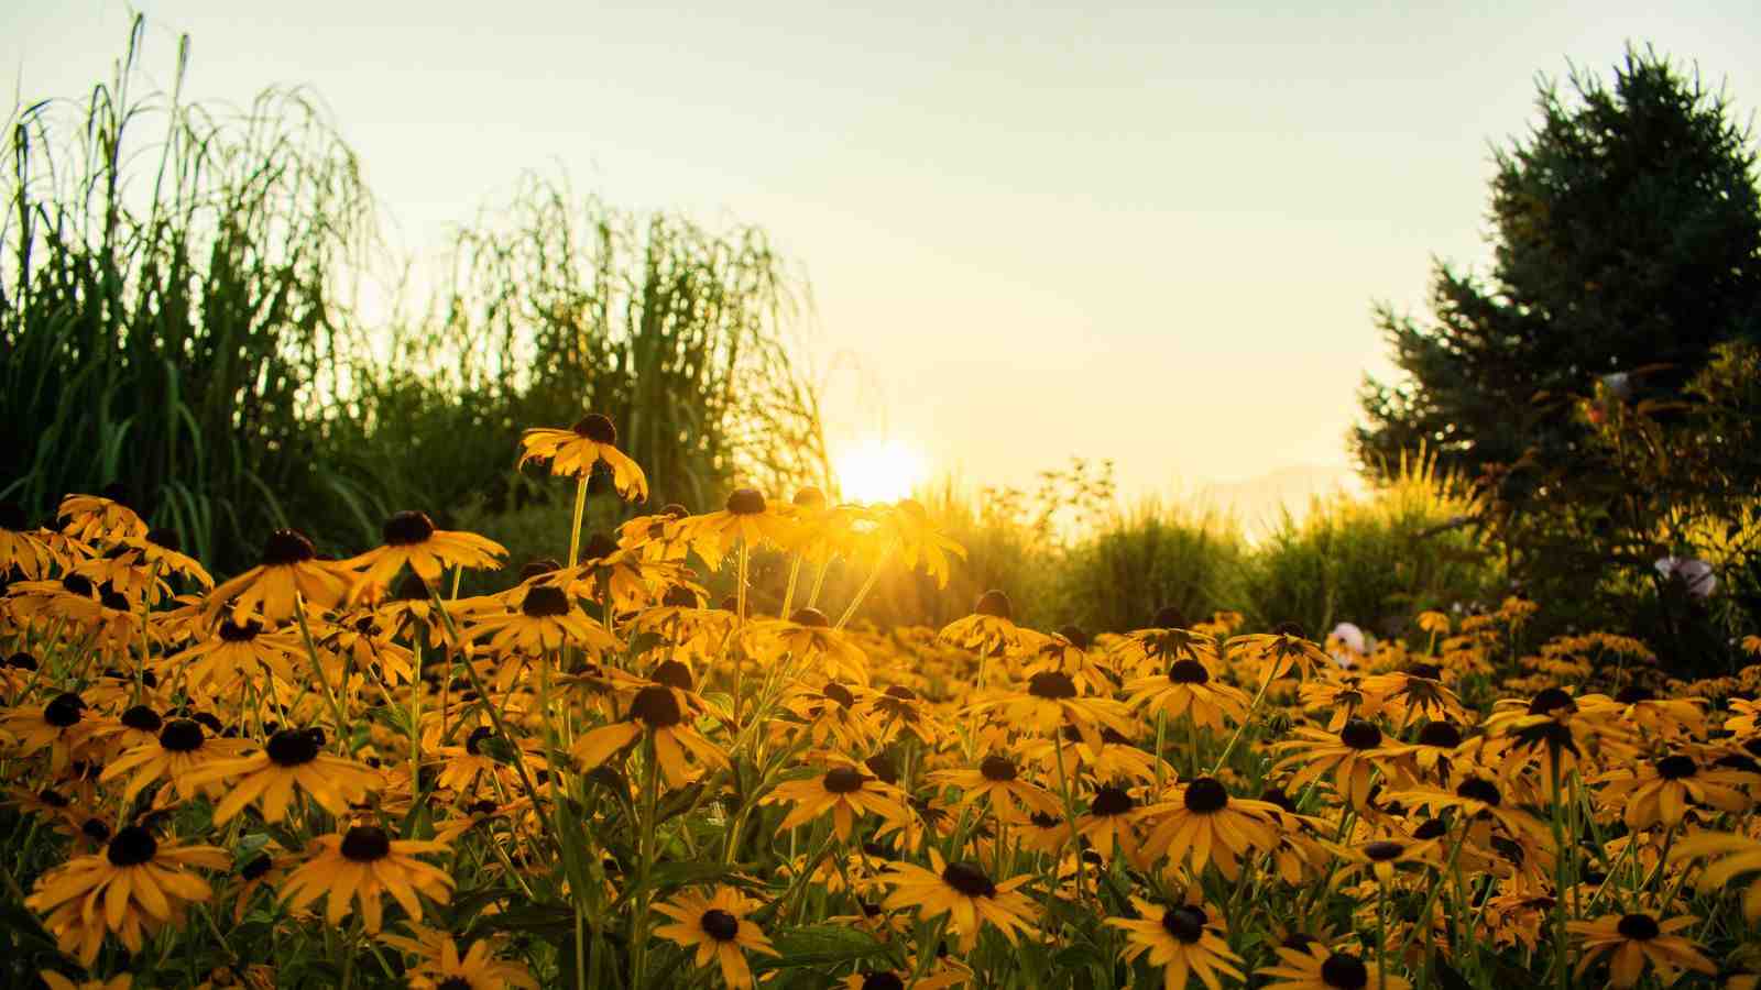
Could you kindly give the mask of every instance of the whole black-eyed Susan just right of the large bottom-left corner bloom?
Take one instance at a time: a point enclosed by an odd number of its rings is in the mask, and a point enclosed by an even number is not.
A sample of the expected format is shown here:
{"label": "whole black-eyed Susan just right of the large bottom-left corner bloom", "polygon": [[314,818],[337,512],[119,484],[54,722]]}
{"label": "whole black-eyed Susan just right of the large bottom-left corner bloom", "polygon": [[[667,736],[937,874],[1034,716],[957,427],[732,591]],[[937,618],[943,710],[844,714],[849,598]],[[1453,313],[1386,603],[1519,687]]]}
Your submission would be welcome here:
{"label": "whole black-eyed Susan just right of the large bottom-left corner bloom", "polygon": [[306,861],[287,877],[284,897],[294,911],[324,897],[324,918],[340,925],[350,904],[359,904],[368,932],[384,925],[384,898],[391,895],[412,921],[423,920],[417,893],[446,904],[453,898],[453,877],[416,856],[444,853],[442,842],[391,839],[375,824],[357,824],[347,831],[321,835],[306,849]]}

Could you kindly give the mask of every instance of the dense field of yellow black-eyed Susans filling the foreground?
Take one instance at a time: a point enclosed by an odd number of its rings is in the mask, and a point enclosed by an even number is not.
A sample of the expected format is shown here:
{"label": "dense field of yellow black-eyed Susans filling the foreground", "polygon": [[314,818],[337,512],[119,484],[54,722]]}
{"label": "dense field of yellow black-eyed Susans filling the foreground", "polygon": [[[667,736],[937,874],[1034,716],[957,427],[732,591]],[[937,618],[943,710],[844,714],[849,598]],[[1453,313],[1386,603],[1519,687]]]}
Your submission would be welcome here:
{"label": "dense field of yellow black-eyed Susans filling the foreground", "polygon": [[[556,558],[398,513],[210,576],[129,506],[0,518],[0,865],[63,986],[1754,986],[1761,668],[1375,645],[1242,617],[873,629],[965,551],[910,500],[648,499],[611,421],[528,430]],[[752,555],[782,553],[761,608]],[[826,601],[833,560],[868,574]],[[461,595],[463,573],[507,590]],[[733,588],[715,597],[708,587]],[[1097,588],[1095,594],[1106,594]],[[1743,646],[1761,652],[1761,641]]]}

